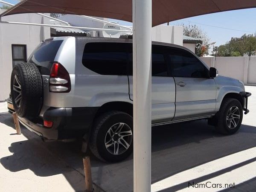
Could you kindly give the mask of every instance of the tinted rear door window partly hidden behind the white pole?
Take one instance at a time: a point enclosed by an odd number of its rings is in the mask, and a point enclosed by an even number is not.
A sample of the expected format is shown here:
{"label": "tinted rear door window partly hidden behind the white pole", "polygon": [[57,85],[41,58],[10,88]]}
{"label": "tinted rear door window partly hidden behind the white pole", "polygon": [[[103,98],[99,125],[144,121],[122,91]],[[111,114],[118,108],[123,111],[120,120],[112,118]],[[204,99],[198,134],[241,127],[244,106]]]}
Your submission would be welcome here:
{"label": "tinted rear door window partly hidden behind the white pole", "polygon": [[[165,61],[165,48],[152,45],[152,76],[167,77],[167,65]],[[132,52],[129,53],[129,75],[132,75]]]}

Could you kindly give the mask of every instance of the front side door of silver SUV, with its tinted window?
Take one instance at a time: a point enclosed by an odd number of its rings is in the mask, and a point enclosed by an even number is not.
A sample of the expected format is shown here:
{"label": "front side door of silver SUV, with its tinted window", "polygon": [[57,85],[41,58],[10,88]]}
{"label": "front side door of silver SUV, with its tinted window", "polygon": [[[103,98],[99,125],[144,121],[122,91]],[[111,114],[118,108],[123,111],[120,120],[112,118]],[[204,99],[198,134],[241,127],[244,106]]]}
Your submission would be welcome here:
{"label": "front side door of silver SUV, with its tinted window", "polygon": [[216,84],[208,68],[191,52],[174,47],[168,49],[168,67],[176,85],[174,120],[214,113]]}

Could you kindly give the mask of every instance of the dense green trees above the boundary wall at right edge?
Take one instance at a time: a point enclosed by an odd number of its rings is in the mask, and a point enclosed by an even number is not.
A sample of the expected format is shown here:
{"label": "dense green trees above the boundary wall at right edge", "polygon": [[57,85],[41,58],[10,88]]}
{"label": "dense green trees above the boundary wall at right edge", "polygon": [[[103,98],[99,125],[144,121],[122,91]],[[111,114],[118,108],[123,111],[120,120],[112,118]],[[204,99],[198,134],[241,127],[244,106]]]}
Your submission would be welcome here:
{"label": "dense green trees above the boundary wall at right edge", "polygon": [[256,33],[242,35],[240,38],[231,38],[226,44],[219,46],[218,56],[243,56],[256,54]]}

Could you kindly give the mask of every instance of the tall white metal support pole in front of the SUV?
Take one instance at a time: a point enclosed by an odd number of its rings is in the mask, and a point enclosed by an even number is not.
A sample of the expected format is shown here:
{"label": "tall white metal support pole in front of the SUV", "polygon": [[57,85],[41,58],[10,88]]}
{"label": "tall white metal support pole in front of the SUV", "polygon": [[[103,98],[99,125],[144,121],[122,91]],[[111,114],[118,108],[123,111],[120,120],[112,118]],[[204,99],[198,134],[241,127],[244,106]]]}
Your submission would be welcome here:
{"label": "tall white metal support pole in front of the SUV", "polygon": [[151,191],[152,2],[133,0],[134,192]]}

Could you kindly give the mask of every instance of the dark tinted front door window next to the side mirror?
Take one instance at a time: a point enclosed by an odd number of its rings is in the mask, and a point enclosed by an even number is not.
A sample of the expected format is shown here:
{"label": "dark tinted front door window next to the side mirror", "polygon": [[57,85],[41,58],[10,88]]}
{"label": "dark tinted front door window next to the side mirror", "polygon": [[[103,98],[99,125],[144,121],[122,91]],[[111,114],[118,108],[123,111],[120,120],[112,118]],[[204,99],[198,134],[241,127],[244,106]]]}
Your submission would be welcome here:
{"label": "dark tinted front door window next to the side mirror", "polygon": [[208,69],[192,53],[179,48],[167,51],[168,70],[173,77],[208,78]]}

